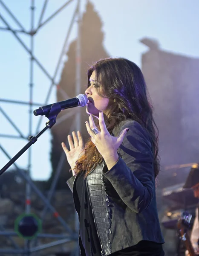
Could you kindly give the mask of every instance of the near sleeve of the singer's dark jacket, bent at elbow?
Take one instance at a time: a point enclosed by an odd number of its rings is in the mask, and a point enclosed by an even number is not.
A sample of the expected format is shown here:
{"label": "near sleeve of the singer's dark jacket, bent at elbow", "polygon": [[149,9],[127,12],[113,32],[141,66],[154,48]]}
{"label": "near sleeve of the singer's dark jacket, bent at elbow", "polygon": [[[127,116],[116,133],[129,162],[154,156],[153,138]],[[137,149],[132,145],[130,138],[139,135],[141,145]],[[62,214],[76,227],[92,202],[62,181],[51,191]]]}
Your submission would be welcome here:
{"label": "near sleeve of the singer's dark jacket, bent at elbow", "polygon": [[124,128],[129,131],[118,150],[119,160],[103,172],[121,200],[139,213],[149,206],[155,192],[152,146],[147,131],[138,122],[126,122],[120,131]]}

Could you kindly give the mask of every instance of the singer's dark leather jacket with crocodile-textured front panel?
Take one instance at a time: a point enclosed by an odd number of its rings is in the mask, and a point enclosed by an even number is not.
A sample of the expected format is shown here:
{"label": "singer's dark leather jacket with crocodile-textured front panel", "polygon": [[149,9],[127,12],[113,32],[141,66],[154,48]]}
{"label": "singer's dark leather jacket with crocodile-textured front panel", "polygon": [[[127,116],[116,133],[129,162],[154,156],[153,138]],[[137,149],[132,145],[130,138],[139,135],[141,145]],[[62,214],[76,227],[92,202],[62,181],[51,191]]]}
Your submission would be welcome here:
{"label": "singer's dark leather jacket with crocodile-textured front panel", "polygon": [[[106,256],[141,240],[164,243],[156,207],[150,139],[147,131],[131,119],[114,128],[112,134],[118,136],[124,128],[129,131],[118,149],[118,162],[110,170],[106,165],[98,166],[86,180],[101,255]],[[75,176],[67,183],[79,214]],[[81,239],[79,244],[83,256]]]}

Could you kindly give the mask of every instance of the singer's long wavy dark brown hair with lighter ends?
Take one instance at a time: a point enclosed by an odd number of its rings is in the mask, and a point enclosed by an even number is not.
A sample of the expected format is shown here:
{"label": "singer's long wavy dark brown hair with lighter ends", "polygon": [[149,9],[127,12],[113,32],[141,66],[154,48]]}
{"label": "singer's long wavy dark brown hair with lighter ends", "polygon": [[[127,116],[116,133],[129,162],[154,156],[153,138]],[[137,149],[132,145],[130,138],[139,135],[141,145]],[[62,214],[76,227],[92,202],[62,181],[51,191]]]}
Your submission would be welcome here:
{"label": "singer's long wavy dark brown hair with lighter ends", "polygon": [[[113,102],[109,109],[111,114],[105,120],[107,130],[111,133],[115,126],[126,119],[133,119],[146,128],[153,146],[156,177],[159,173],[158,128],[153,119],[153,107],[149,103],[146,83],[140,68],[125,58],[101,59],[88,70],[88,87],[93,71],[95,82],[101,87],[96,88],[98,95]],[[98,120],[95,124],[99,129]],[[86,177],[98,164],[103,163],[103,157],[91,138],[84,149],[84,155],[76,162],[75,174],[85,172]]]}

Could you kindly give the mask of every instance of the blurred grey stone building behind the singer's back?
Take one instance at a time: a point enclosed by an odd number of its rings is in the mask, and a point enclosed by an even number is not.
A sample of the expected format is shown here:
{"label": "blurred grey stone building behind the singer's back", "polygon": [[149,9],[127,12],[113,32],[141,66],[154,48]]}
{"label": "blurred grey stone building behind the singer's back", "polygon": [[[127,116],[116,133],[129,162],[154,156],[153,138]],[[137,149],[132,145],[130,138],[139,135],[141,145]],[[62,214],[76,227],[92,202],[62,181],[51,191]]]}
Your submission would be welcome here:
{"label": "blurred grey stone building behind the singer's back", "polygon": [[151,43],[141,68],[159,128],[162,166],[199,161],[199,59]]}

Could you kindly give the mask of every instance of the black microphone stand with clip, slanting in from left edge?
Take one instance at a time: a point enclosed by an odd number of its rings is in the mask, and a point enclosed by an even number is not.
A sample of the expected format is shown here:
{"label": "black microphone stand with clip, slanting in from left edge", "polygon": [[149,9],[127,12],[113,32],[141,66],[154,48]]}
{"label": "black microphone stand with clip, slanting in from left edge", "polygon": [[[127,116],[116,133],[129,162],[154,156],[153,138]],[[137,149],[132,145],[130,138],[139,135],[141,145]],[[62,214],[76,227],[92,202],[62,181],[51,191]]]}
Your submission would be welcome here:
{"label": "black microphone stand with clip, slanting in from left edge", "polygon": [[32,145],[34,144],[38,137],[40,137],[44,131],[46,131],[48,128],[52,128],[53,125],[55,125],[56,118],[58,116],[58,113],[61,112],[61,106],[59,103],[55,103],[52,105],[50,112],[48,115],[45,115],[49,121],[46,122],[46,127],[43,128],[36,136],[29,136],[28,140],[29,143],[27,143],[8,163],[6,163],[5,166],[0,170],[0,176]]}

